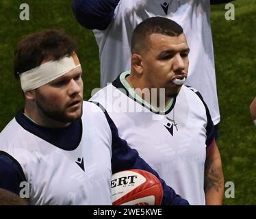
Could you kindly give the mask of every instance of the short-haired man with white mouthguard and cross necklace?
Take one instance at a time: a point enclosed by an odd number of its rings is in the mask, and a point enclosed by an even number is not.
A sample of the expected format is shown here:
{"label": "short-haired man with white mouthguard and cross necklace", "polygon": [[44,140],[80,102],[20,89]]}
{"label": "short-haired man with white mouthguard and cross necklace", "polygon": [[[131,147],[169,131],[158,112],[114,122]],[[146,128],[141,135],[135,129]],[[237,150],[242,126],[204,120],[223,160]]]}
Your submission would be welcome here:
{"label": "short-haired man with white mouthguard and cross necklace", "polygon": [[[131,37],[131,70],[94,96],[120,137],[192,205],[221,205],[222,164],[199,92],[183,86],[190,49],[180,25],[153,17]],[[116,155],[118,156],[118,155]]]}

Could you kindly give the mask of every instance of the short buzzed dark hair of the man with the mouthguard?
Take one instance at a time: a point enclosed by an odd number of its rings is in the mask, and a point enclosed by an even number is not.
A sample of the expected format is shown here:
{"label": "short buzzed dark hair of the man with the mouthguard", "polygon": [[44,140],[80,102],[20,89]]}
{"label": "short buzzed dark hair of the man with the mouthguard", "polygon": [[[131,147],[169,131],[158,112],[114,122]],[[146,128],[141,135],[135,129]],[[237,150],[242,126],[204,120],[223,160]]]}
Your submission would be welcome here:
{"label": "short buzzed dark hair of the man with the mouthguard", "polygon": [[147,40],[151,34],[163,34],[167,36],[179,36],[183,29],[175,21],[168,18],[155,16],[140,23],[131,36],[131,53],[138,53],[140,49],[146,49]]}

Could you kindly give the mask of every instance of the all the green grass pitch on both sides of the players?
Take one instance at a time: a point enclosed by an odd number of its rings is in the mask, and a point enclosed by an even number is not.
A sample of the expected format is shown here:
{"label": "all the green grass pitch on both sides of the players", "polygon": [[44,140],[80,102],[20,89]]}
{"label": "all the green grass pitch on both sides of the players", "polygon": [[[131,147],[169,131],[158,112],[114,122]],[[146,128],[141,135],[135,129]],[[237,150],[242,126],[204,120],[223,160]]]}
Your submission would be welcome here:
{"label": "all the green grass pitch on both sides of the players", "polygon": [[[84,97],[99,88],[99,53],[92,31],[78,25],[71,0],[27,0],[30,20],[19,19],[24,1],[0,1],[0,130],[23,107],[13,77],[13,54],[22,36],[45,28],[62,29],[77,40],[84,69]],[[226,205],[256,204],[256,129],[248,106],[256,95],[256,2],[235,1],[235,21],[225,20],[225,5],[212,7],[212,33],[220,104],[220,138],[225,181],[235,183],[235,198]]]}

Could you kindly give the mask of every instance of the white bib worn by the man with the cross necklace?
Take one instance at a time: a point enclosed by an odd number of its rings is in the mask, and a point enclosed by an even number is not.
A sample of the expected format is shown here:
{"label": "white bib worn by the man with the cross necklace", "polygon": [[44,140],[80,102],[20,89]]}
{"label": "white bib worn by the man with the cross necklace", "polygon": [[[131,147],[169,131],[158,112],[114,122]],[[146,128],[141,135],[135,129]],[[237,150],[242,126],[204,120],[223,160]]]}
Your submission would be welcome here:
{"label": "white bib worn by the man with the cross necklace", "polygon": [[[121,74],[90,100],[105,107],[120,138],[136,149],[167,185],[191,205],[205,205],[206,147],[214,141],[206,105],[192,88],[182,86],[165,112],[155,114],[149,103],[141,103],[137,97],[134,101],[117,89],[128,89],[124,82],[127,74]],[[175,120],[177,129],[171,120]]]}

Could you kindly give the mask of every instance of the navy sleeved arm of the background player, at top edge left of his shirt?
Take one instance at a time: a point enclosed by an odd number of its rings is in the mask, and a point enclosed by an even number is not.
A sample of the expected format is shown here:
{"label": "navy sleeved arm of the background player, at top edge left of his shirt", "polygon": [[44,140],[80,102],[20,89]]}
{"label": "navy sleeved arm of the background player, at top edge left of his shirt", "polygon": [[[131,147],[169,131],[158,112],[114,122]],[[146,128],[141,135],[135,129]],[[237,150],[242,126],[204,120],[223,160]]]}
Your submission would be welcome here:
{"label": "navy sleeved arm of the background player, at top edge left of his shirt", "polygon": [[74,0],[73,12],[80,25],[88,29],[106,29],[120,0]]}

